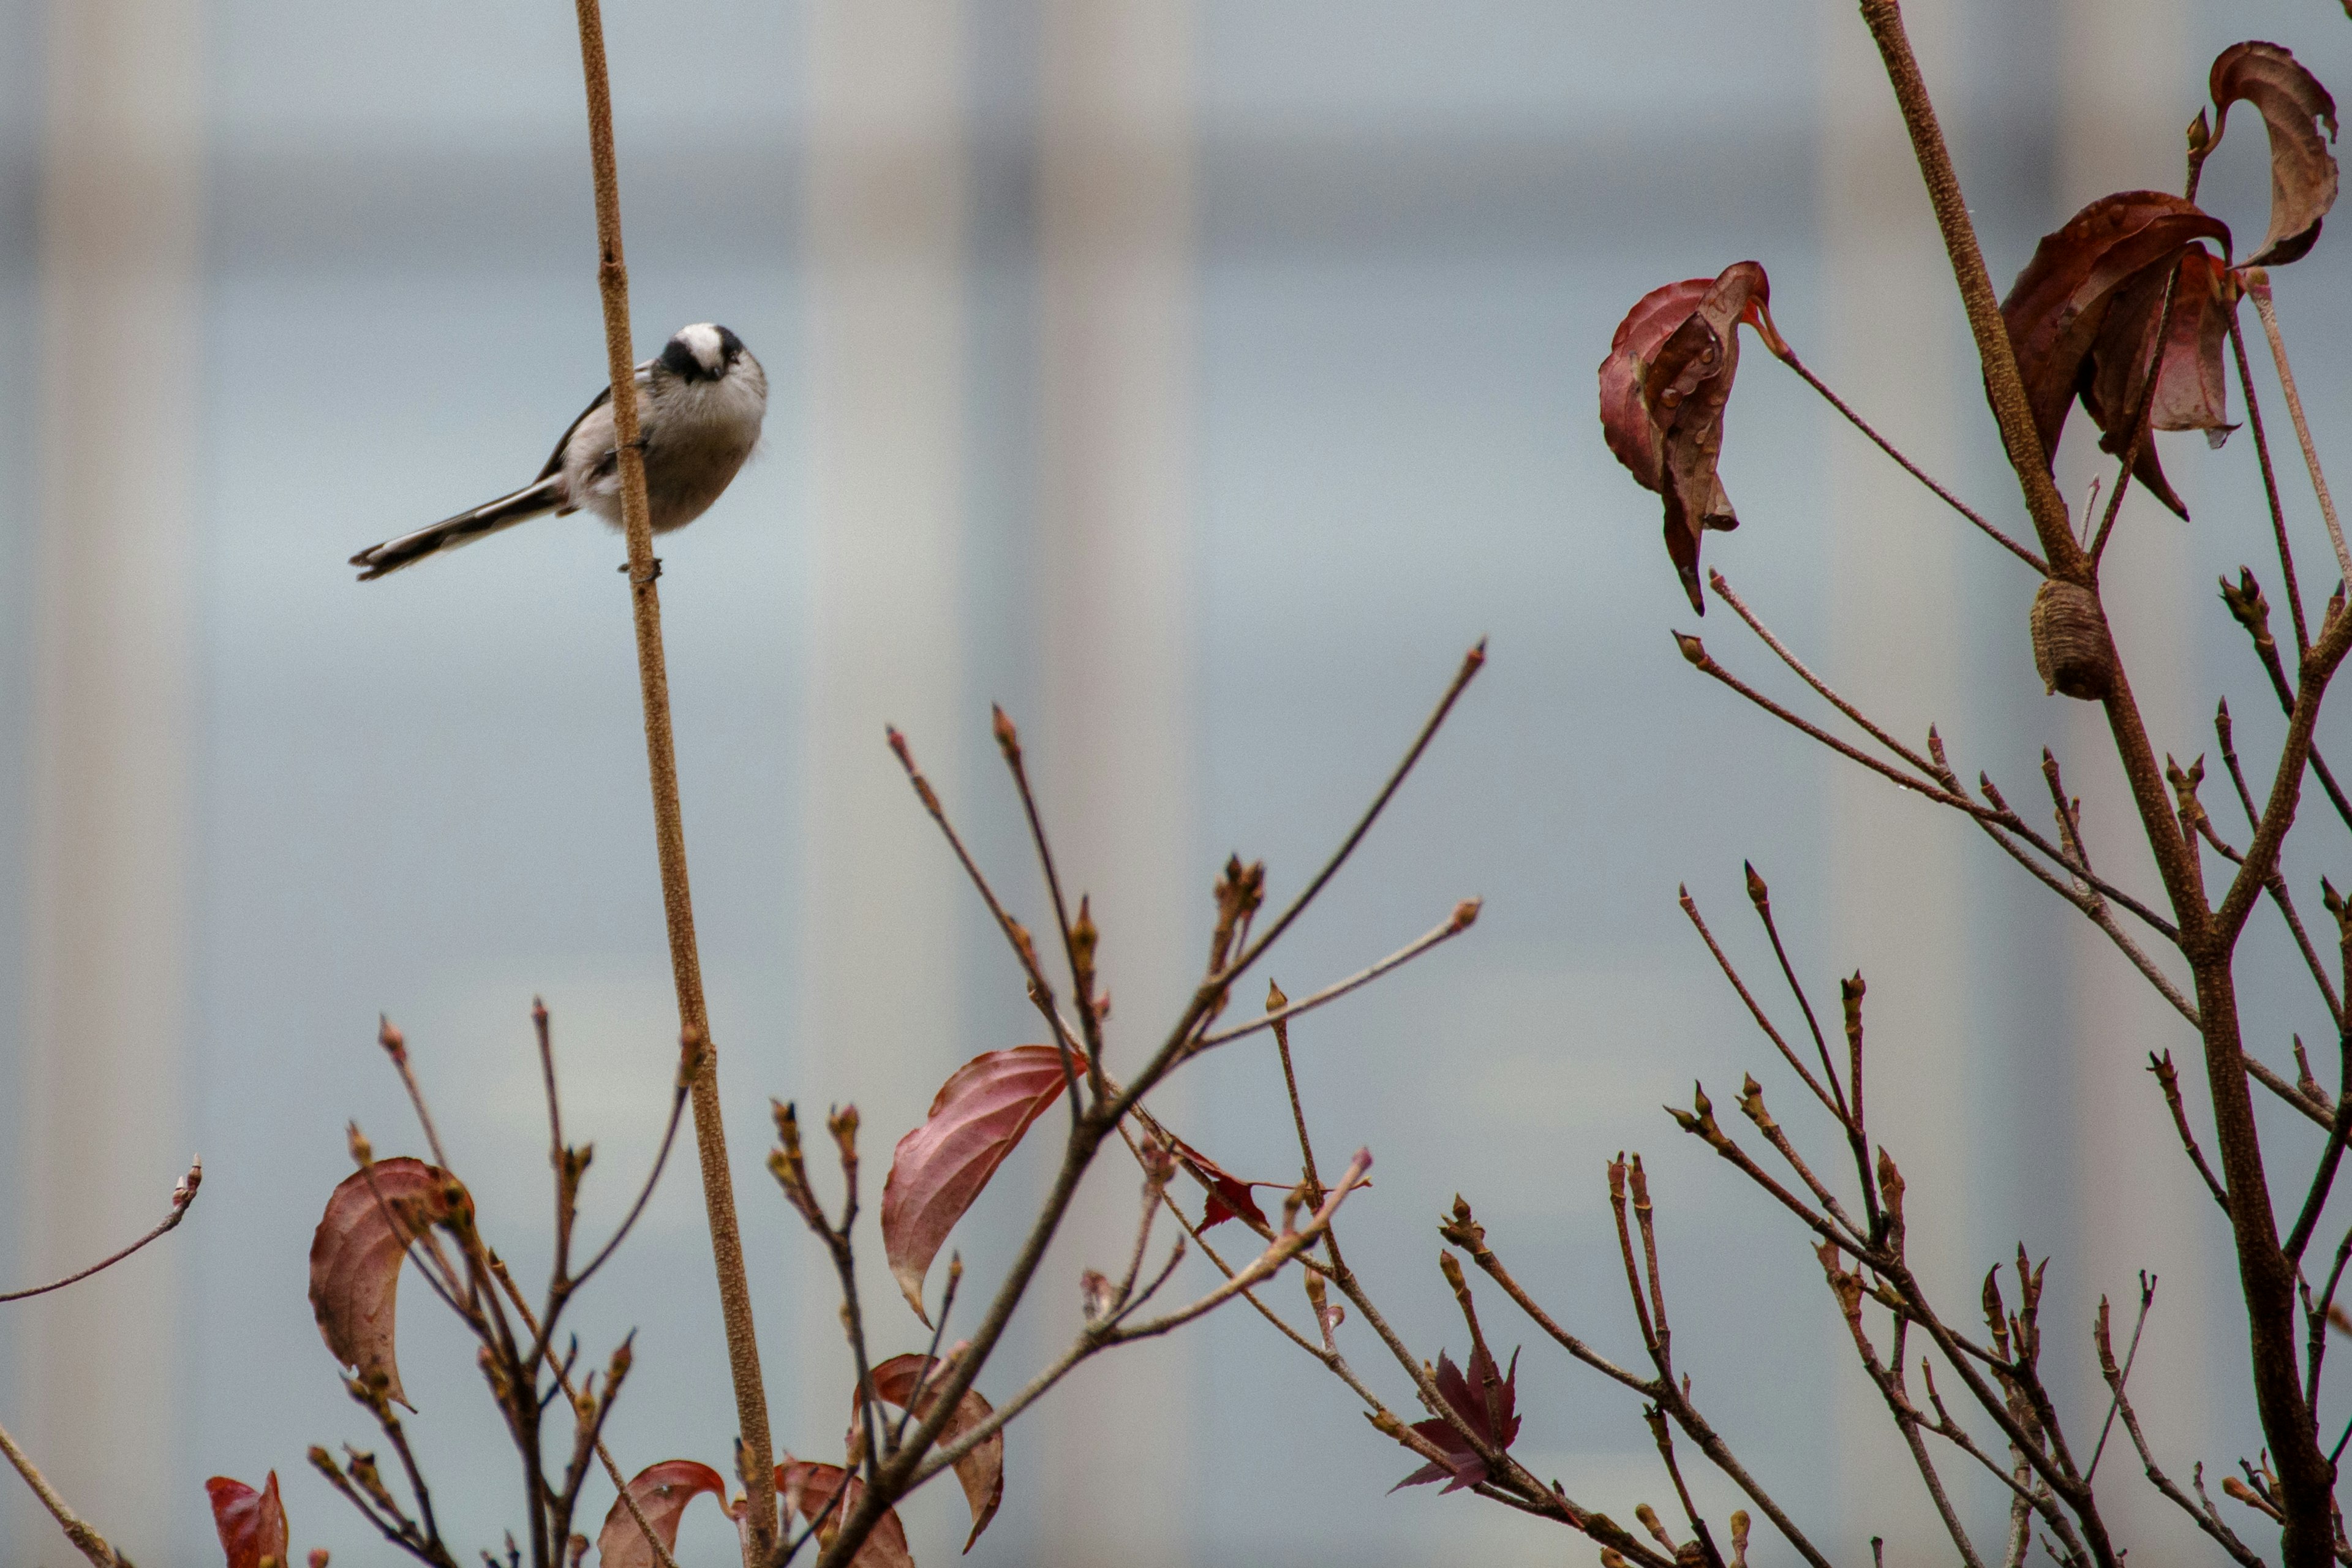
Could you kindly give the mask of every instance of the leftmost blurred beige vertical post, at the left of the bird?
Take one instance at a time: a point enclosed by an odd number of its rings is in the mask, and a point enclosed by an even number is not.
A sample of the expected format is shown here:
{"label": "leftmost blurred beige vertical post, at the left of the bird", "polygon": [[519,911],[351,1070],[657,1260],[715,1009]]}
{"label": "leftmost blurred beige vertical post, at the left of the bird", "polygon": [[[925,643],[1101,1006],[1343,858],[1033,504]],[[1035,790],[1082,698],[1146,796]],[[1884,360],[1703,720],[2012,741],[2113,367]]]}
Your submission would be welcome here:
{"label": "leftmost blurred beige vertical post, at the left of the bird", "polygon": [[[40,531],[24,1100],[9,1180],[52,1276],[155,1222],[186,1168],[191,621],[205,56],[193,0],[47,7]],[[24,1307],[19,1427],[127,1552],[167,1552],[172,1276],[202,1222]],[[9,1561],[66,1554],[14,1509]],[[28,1535],[26,1535],[28,1530]]]}

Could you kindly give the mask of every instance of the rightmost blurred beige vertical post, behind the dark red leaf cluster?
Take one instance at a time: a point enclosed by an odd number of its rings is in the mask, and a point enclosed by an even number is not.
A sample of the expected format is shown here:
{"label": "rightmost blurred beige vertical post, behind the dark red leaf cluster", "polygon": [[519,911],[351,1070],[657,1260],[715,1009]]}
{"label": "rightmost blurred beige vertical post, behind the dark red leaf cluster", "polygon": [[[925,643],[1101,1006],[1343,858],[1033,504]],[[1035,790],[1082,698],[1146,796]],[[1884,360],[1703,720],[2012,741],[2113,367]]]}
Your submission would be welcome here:
{"label": "rightmost blurred beige vertical post, behind the dark red leaf cluster", "polygon": [[[2204,96],[2204,68],[2190,61],[2185,49],[2185,12],[2183,0],[2079,0],[2060,9],[2058,80],[2065,87],[2058,94],[2058,179],[2056,200],[2044,214],[2046,228],[2058,228],[2084,202],[2110,190],[2180,190],[2180,127],[2190,113],[2183,103],[2194,106]],[[2251,315],[2249,308],[2249,322]],[[2171,444],[2185,437],[2164,440]],[[2185,451],[2169,449],[2164,456],[2169,477],[2194,512],[2201,496],[2197,458],[2204,456],[2204,442]],[[2105,501],[2114,468],[2117,461],[2098,451],[2096,430],[2077,411],[2058,447],[2060,494],[2082,508],[2082,496],[2096,477]],[[2227,515],[2260,536],[2258,494],[2234,494],[2223,501]],[[2204,522],[2211,527],[2211,517]],[[2107,621],[2131,670],[2131,691],[2140,701],[2147,736],[2159,755],[2176,752],[2183,764],[2213,750],[2211,710],[2204,708],[2206,698],[2194,691],[2192,677],[2199,623],[2211,623],[2218,609],[2211,592],[2192,590],[2187,529],[2190,524],[2133,487],[2100,571]],[[2265,581],[2274,578],[2274,571],[2265,571]],[[2319,581],[2317,571],[2312,581]],[[2279,625],[2286,625],[2284,611]],[[2091,703],[2065,698],[2049,698],[2049,705],[2063,710],[2049,722],[2065,736],[2065,778],[2082,797],[2093,865],[2147,898],[2152,907],[2166,907],[2140,837],[2138,811],[2112,762],[2114,743],[2105,715]],[[2258,733],[2272,731],[2265,726]],[[2216,806],[2232,799],[2218,755],[2204,795]],[[2227,811],[2216,809],[2216,823],[2225,823]],[[2201,1067],[2194,1065],[2197,1034],[2124,964],[2107,938],[2082,922],[2070,924],[2079,1206],[2074,1234],[2082,1274],[2074,1288],[2086,1302],[2098,1295],[2112,1298],[2117,1324],[2129,1324],[2138,1305],[2138,1272],[2152,1269],[2164,1279],[2157,1309],[2147,1319],[2147,1340],[2131,1373],[2131,1399],[2147,1422],[2150,1441],[2178,1443],[2190,1434],[2216,1429],[2211,1387],[2204,1378],[2209,1291],[2197,1281],[2213,1281],[2216,1288],[2227,1281],[2234,1293],[2227,1251],[2206,1246],[2225,1232],[2209,1225],[2216,1218],[2211,1201],[2180,1157],[2171,1117],[2147,1079],[2147,1053],[2171,1046],[2183,1063],[2180,1079],[2190,1086],[2190,1105],[2201,1107],[2206,1095],[2199,1088]],[[2180,964],[2169,969],[2185,990]],[[2274,1048],[2277,1041],[2263,1044]],[[2197,1121],[2211,1126],[2201,1110]],[[2211,1147],[2209,1143],[2209,1154]],[[2234,1312],[2230,1316],[2237,1321]],[[2124,1335],[2129,1328],[2117,1333]],[[2237,1371],[2246,1366],[2244,1342],[2237,1349],[2225,1347],[2225,1354],[2230,1359],[2218,1366]],[[2077,1366],[2082,1382],[2074,1396],[2084,1403],[2103,1401],[2098,1371]],[[2237,1387],[2244,1389],[2244,1380]],[[2105,1507],[2107,1528],[2124,1542],[2157,1542],[2178,1530],[2176,1519],[2166,1516],[2169,1505],[2145,1486],[2117,1486]],[[2138,1556],[2133,1552],[2133,1559]]]}

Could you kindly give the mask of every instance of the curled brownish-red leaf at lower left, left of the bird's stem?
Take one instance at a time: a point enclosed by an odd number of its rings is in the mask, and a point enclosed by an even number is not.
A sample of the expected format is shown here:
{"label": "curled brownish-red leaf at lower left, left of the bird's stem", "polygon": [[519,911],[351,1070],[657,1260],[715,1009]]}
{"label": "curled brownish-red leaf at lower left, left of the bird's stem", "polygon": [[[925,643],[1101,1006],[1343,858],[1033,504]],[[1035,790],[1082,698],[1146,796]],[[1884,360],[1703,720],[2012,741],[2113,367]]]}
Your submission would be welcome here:
{"label": "curled brownish-red leaf at lower left, left of the bird's stem", "polygon": [[362,1382],[381,1375],[383,1392],[400,1403],[409,1401],[393,1361],[393,1312],[407,1244],[470,1204],[466,1187],[437,1166],[379,1159],[343,1178],[310,1237],[310,1312],[320,1338]]}

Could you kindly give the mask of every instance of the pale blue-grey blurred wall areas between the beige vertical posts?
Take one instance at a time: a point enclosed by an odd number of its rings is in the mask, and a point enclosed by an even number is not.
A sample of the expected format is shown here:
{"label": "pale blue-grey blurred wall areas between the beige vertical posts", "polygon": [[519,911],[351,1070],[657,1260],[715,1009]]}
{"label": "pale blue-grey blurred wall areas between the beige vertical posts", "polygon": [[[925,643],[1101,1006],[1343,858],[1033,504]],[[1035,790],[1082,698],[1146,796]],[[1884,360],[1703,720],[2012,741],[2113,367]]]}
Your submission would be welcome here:
{"label": "pale blue-grey blurred wall areas between the beige vertical posts", "polygon": [[[988,395],[974,400],[964,623],[969,708],[981,715],[988,698],[1018,710],[1037,689],[1023,625],[1035,16],[1016,0],[971,12],[969,374]],[[696,529],[691,581],[666,585],[666,602],[753,1269],[779,1298],[783,1269],[816,1267],[753,1164],[762,1095],[795,1091],[800,1053],[795,748],[811,592],[797,477],[807,409],[793,369],[807,327],[795,235],[802,26],[800,7],[776,5],[612,16],[640,348],[668,324],[717,317],[760,350],[776,388],[764,458]],[[1352,1260],[1390,1281],[1416,1345],[1458,1349],[1425,1220],[1465,1190],[1557,1314],[1630,1356],[1599,1168],[1616,1147],[1649,1147],[1668,1269],[1682,1286],[1682,1359],[1724,1432],[1811,1516],[1837,1502],[1818,1465],[1835,1349],[1818,1274],[1785,1227],[1675,1147],[1649,1107],[1682,1098],[1693,1074],[1726,1103],[1736,1072],[1759,1060],[1675,910],[1677,882],[1733,926],[1738,863],[1752,856],[1773,877],[1818,994],[1851,966],[1853,954],[1816,938],[1828,764],[1733,710],[1675,656],[1665,625],[1689,616],[1661,559],[1653,498],[1597,440],[1592,367],[1637,294],[1738,256],[1769,263],[1776,315],[1799,341],[1837,310],[1818,275],[1823,26],[1851,21],[1842,7],[1726,0],[1204,0],[1192,470],[1202,889],[1232,846],[1263,853],[1277,875],[1312,863],[1461,649],[1494,637],[1494,668],[1425,773],[1277,966],[1298,990],[1385,950],[1461,893],[1489,900],[1472,950],[1301,1030],[1317,1121],[1334,1145],[1362,1140],[1381,1154],[1381,1213],[1357,1222]],[[2352,82],[2352,28],[2333,5],[2213,2],[2197,12],[2197,35],[2192,59],[2237,35],[2284,35],[2324,75]],[[2053,38],[2049,7],[1973,7],[1962,78],[1940,87],[1964,127],[1964,174],[2004,282],[2065,216],[2051,197],[2049,106],[2065,92]],[[532,1237],[543,1222],[541,1152],[527,1131],[529,987],[550,997],[557,1039],[597,1084],[572,1112],[576,1135],[600,1147],[597,1213],[642,1166],[654,1135],[644,1091],[666,1074],[663,1053],[647,1048],[670,1025],[659,1011],[661,924],[612,552],[529,529],[440,574],[430,592],[400,595],[358,592],[341,567],[369,538],[513,482],[517,454],[536,461],[602,374],[576,35],[560,5],[221,0],[205,71],[186,1131],[209,1180],[169,1244],[183,1279],[172,1333],[186,1347],[174,1481],[186,1535],[127,1544],[148,1563],[214,1561],[200,1479],[278,1467],[299,1547],[383,1561],[301,1462],[310,1441],[362,1436],[301,1281],[320,1197],[348,1168],[343,1119],[376,1131],[379,1147],[405,1126],[369,1044],[376,1009],[412,1027],[485,1220],[506,1234]],[[0,355],[19,367],[35,362],[38,78],[40,7],[0,5]],[[2178,96],[2185,118],[2201,99],[2199,73]],[[2232,190],[2258,190],[2249,176],[2260,179],[2239,165]],[[2260,228],[2258,197],[2216,200],[2244,233]],[[2298,341],[2312,343],[2303,374],[2324,440],[2352,416],[2345,254],[2331,237],[2281,280]],[[1957,477],[2013,517],[1990,423],[1973,418],[1973,371],[1957,353],[1950,362],[1971,414]],[[1830,567],[1816,456],[1825,423],[1762,355],[1755,367],[1726,458],[1750,527],[1710,550],[1783,607],[1783,625],[1804,625],[1825,609]],[[28,397],[21,376],[0,378],[0,463],[12,475],[31,463]],[[2201,461],[2180,447],[2176,473]],[[2213,465],[2216,494],[2249,494],[2225,489],[2251,468],[2244,442]],[[9,559],[24,559],[28,534],[16,484],[0,496]],[[2260,562],[2258,512],[2216,508],[2192,548],[2199,581],[2241,555]],[[2006,715],[2039,701],[2006,618],[2013,583],[1985,550],[1964,559],[1952,592],[1987,630],[1969,646],[1971,710],[1940,717],[1969,726],[1997,771],[2030,778],[2032,743],[2020,736],[2002,752],[1997,738]],[[0,576],[5,886],[24,865],[28,595],[21,571]],[[2185,635],[2241,710],[2260,708],[2218,607]],[[981,762],[985,731],[974,719],[931,745],[964,745]],[[988,778],[981,766],[967,773]],[[922,830],[913,809],[908,830]],[[981,837],[1016,851],[1004,820]],[[2340,856],[2340,839],[2324,846]],[[2063,912],[1990,851],[1971,851],[1966,867],[1964,886],[1936,896],[1964,903],[1969,964],[1983,980],[1971,987],[1973,1112],[1992,1187],[1976,1194],[1978,1251],[1997,1255],[2020,1229],[2037,1251],[2065,1246],[2072,1220],[2037,1199],[2063,1171],[2051,1145],[2079,1112],[2044,1023],[2060,1006]],[[0,983],[14,990],[21,907],[0,900],[0,922],[12,938],[0,943]],[[1025,1030],[978,919],[967,971],[969,1032],[941,1041],[943,1067]],[[0,1084],[7,1065],[0,1037]],[[1202,1143],[1279,1168],[1284,1126],[1263,1053],[1209,1065],[1195,1095]],[[0,1140],[5,1128],[0,1119]],[[7,1154],[0,1143],[0,1168]],[[5,1215],[0,1201],[0,1241]],[[1002,1253],[1007,1218],[976,1225],[981,1241],[967,1251],[995,1237]],[[682,1161],[579,1312],[593,1345],[644,1328],[614,1427],[628,1455],[724,1458],[731,1410],[708,1279]],[[2067,1321],[2084,1312],[2082,1300],[2065,1305]],[[1498,1305],[1489,1324],[1505,1345],[1531,1340]],[[1740,1328],[1726,1340],[1731,1324]],[[5,1333],[0,1312],[0,1345]],[[788,1342],[771,1331],[771,1359]],[[1018,1340],[993,1385],[1009,1387],[1011,1368],[1040,1352]],[[1381,1366],[1369,1338],[1355,1356]],[[1240,1312],[1200,1331],[1195,1366],[1195,1561],[1406,1563],[1458,1540],[1512,1561],[1590,1552],[1541,1526],[1484,1519],[1456,1540],[1449,1530],[1475,1505],[1428,1490],[1383,1497],[1406,1467],[1399,1453],[1364,1429],[1336,1382]],[[487,1544],[506,1519],[503,1439],[470,1356],[421,1300],[405,1368],[428,1410],[414,1429],[445,1479],[449,1535]],[[2234,1373],[2237,1352],[2223,1345],[2216,1385],[2234,1387]],[[835,1394],[797,1401],[804,1378],[835,1387],[830,1371],[779,1366],[779,1434],[823,1453]],[[1402,1382],[1388,1375],[1383,1387],[1402,1408]],[[1613,1389],[1531,1345],[1522,1408],[1522,1446],[1538,1465],[1557,1460],[1571,1493],[1623,1516],[1635,1493],[1613,1476],[1642,1474],[1642,1495],[1663,1502],[1639,1469],[1635,1408]],[[1115,1425],[1105,1432],[1115,1441]],[[2237,1403],[2216,1413],[2206,1453],[2253,1443]],[[1035,1455],[1018,1434],[1011,1455],[1007,1509],[974,1563],[1030,1559],[1037,1519],[1018,1472]],[[477,1465],[494,1483],[454,1486]],[[0,1509],[19,1507],[24,1495],[0,1486]],[[602,1507],[590,1493],[590,1530]],[[694,1530],[689,1544],[724,1552],[715,1514]],[[934,1537],[953,1540],[922,1540]]]}

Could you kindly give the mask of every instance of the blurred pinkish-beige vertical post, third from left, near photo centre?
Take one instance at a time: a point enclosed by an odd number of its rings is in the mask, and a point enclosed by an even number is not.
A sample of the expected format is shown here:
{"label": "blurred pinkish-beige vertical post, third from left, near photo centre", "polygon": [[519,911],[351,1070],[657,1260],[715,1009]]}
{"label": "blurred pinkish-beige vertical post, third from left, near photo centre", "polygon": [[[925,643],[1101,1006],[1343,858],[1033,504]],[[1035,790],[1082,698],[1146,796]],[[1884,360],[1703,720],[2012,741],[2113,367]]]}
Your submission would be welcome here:
{"label": "blurred pinkish-beige vertical post, third from left, near photo centre", "polygon": [[[1042,757],[1063,875],[1103,931],[1112,1070],[1157,1044],[1207,959],[1211,867],[1190,858],[1190,9],[1040,5]],[[1127,1248],[1134,1190],[1112,1150],[1070,1234],[1087,1262]],[[1051,1561],[1185,1561],[1188,1345],[1103,1359],[1049,1406]]]}

